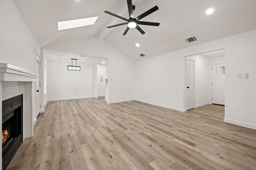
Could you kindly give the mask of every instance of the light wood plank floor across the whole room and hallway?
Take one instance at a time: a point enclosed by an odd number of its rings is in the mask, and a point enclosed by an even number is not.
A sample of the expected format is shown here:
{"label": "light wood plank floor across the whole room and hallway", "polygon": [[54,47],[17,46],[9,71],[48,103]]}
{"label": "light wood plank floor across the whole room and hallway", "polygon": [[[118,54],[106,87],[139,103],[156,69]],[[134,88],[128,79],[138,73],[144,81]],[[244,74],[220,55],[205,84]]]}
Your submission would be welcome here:
{"label": "light wood plank floor across the whole room and hallway", "polygon": [[137,101],[48,102],[9,170],[256,169],[256,130],[223,122],[224,107],[180,113]]}

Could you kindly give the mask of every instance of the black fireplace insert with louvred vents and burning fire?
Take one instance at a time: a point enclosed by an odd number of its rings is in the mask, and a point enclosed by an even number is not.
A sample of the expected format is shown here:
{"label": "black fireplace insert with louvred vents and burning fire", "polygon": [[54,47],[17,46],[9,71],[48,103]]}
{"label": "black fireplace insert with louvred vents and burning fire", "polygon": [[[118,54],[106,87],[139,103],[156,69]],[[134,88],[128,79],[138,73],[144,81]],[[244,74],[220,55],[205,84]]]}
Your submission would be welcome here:
{"label": "black fireplace insert with louvred vents and burning fire", "polygon": [[23,95],[2,101],[2,169],[5,170],[22,143]]}

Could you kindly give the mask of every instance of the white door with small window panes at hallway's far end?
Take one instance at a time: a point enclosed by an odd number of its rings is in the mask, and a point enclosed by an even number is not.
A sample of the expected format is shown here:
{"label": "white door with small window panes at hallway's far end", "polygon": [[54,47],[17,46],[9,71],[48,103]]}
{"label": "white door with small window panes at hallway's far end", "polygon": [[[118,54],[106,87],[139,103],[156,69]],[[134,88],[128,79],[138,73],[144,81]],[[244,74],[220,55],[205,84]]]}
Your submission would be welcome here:
{"label": "white door with small window panes at hallway's far end", "polygon": [[212,104],[225,105],[225,64],[212,65]]}

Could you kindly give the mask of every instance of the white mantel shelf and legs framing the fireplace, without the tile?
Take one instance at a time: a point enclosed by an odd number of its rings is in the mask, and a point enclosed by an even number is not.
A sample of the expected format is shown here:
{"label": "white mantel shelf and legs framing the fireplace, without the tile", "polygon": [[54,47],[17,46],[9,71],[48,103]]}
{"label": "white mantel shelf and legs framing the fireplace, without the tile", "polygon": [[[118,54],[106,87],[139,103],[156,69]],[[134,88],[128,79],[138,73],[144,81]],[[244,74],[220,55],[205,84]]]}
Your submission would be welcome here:
{"label": "white mantel shelf and legs framing the fireplace, without the tile", "polygon": [[[25,138],[33,136],[33,125],[36,119],[35,115],[35,89],[38,74],[31,71],[10,65],[8,63],[0,63],[0,123],[2,124],[2,93],[6,88],[2,88],[4,81],[18,81],[25,85],[23,92],[23,141]],[[10,96],[15,97],[15,96]],[[5,100],[5,99],[4,99]],[[2,131],[2,126],[0,126]],[[2,143],[0,147],[2,152]],[[2,154],[0,154],[0,168],[2,169]]]}

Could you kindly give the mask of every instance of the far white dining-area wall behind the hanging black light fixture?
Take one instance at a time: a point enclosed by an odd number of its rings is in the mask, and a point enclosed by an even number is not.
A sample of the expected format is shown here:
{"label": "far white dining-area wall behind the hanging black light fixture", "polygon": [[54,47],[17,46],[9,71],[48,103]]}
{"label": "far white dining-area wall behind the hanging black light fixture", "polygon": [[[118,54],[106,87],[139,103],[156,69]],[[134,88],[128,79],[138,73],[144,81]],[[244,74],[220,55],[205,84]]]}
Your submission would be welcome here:
{"label": "far white dining-area wall behind the hanging black light fixture", "polygon": [[94,97],[96,65],[77,61],[81,71],[67,70],[68,65],[71,65],[71,59],[70,61],[48,60],[48,101]]}

